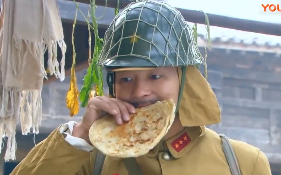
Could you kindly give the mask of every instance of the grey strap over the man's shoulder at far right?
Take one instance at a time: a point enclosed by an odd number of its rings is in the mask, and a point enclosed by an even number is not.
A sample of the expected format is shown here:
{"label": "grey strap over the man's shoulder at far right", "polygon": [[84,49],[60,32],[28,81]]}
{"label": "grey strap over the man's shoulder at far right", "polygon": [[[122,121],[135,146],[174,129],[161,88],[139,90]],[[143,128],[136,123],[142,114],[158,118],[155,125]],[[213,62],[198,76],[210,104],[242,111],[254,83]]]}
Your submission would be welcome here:
{"label": "grey strap over the man's shoulder at far right", "polygon": [[219,136],[221,137],[221,140],[223,142],[223,152],[225,153],[225,157],[230,167],[231,174],[241,175],[239,165],[229,139],[224,134],[219,134]]}

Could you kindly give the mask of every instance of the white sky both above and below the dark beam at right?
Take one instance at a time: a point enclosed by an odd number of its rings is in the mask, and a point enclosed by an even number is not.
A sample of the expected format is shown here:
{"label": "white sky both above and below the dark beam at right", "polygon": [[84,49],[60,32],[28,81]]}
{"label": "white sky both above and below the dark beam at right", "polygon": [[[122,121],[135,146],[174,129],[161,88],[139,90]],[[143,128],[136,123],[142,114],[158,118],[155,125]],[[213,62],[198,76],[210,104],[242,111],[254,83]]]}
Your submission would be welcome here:
{"label": "white sky both above and below the dark beam at right", "polygon": [[[269,10],[264,12],[261,5],[281,5],[280,0],[166,0],[166,2],[178,8],[203,10],[205,13],[216,15],[281,24],[281,12],[277,10],[275,12]],[[193,23],[190,25],[193,25]],[[198,33],[206,34],[205,25],[198,25]],[[226,40],[233,38],[237,42],[243,40],[244,43],[249,44],[253,41],[262,45],[266,42],[270,45],[281,44],[281,36],[238,31],[216,26],[210,26],[210,35],[211,38],[225,38]]]}

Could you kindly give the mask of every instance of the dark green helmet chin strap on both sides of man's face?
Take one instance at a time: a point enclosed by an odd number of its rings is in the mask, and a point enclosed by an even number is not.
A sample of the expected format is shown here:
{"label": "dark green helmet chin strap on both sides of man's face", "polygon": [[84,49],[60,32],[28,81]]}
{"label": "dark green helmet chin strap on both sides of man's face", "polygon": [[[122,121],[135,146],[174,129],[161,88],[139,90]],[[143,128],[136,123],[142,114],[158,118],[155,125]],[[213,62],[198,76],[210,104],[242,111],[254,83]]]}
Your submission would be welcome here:
{"label": "dark green helmet chin strap on both sides of man's face", "polygon": [[[186,66],[182,66],[182,80],[180,84],[180,92],[178,94],[178,103],[176,105],[176,111],[175,115],[178,113],[178,108],[180,106],[180,100],[182,99],[182,92],[183,92],[183,87],[185,84],[185,73],[186,73]],[[114,89],[113,89],[113,83],[114,83],[114,73],[113,72],[108,72],[106,75],[106,83],[109,88],[109,95],[112,97],[116,98],[114,95]]]}

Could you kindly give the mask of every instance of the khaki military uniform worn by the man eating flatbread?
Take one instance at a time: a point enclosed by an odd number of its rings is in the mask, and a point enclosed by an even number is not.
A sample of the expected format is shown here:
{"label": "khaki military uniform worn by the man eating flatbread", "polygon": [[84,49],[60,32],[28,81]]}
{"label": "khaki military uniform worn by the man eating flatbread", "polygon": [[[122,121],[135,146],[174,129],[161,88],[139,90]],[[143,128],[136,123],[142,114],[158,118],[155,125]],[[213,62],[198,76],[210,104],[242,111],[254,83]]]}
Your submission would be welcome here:
{"label": "khaki military uniform worn by the man eating flatbread", "polygon": [[[243,175],[270,175],[268,159],[247,143],[230,140]],[[137,157],[144,175],[231,175],[219,135],[203,126],[186,127]],[[97,150],[77,149],[59,130],[36,145],[11,175],[91,175]],[[102,175],[128,175],[120,158],[106,157]]]}

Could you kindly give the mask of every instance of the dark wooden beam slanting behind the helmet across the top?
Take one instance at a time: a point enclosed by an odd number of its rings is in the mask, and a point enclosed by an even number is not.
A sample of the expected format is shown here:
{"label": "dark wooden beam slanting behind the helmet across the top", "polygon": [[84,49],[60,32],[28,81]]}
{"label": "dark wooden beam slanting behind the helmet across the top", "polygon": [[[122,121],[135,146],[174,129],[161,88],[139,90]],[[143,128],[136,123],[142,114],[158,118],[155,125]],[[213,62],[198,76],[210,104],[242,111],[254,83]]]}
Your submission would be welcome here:
{"label": "dark wooden beam slanting behind the helmet across the top", "polygon": [[[67,0],[73,1],[73,0]],[[89,4],[89,0],[75,0],[76,2]],[[135,2],[135,0],[120,0],[119,7],[124,8],[128,4]],[[105,6],[105,0],[96,0],[96,5]],[[117,0],[107,0],[106,7],[117,8]],[[203,12],[196,10],[187,10],[182,8],[176,8],[180,11],[183,18],[186,21],[205,24],[205,16]],[[228,29],[235,29],[247,32],[255,32],[269,35],[281,36],[281,24],[269,23],[269,22],[260,22],[254,20],[246,20],[239,18],[226,17],[222,15],[214,15],[206,13],[210,25],[223,27]]]}

